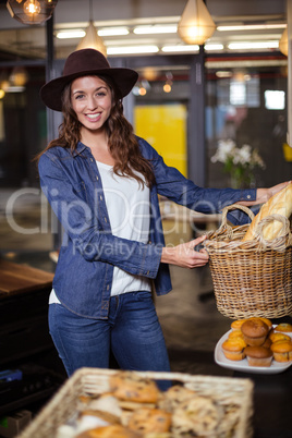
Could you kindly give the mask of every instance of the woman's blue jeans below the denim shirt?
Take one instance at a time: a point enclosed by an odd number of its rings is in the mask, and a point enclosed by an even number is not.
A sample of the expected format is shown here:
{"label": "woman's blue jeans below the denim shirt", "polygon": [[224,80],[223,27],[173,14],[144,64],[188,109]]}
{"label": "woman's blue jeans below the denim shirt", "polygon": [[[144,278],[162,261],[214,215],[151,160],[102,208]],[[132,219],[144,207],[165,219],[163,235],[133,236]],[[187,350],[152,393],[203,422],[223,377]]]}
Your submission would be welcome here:
{"label": "woman's blue jeans below the denim shirt", "polygon": [[169,372],[163,333],[151,293],[110,299],[108,319],[89,319],[61,304],[49,305],[49,328],[66,373],[83,366],[109,368],[112,351],[121,369]]}

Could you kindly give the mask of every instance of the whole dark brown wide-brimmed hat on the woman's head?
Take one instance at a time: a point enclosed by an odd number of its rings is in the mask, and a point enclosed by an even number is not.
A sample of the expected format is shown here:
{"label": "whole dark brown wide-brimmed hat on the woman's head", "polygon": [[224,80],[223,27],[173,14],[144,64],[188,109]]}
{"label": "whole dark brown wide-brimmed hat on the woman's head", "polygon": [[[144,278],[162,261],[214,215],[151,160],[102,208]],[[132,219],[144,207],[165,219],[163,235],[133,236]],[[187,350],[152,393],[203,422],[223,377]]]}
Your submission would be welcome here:
{"label": "whole dark brown wide-brimmed hat on the woman's head", "polygon": [[131,92],[138,78],[138,74],[134,70],[111,68],[107,59],[98,50],[76,50],[68,57],[62,76],[49,81],[40,88],[40,97],[50,109],[62,111],[61,95],[64,86],[76,77],[95,74],[110,76],[121,92],[122,97]]}

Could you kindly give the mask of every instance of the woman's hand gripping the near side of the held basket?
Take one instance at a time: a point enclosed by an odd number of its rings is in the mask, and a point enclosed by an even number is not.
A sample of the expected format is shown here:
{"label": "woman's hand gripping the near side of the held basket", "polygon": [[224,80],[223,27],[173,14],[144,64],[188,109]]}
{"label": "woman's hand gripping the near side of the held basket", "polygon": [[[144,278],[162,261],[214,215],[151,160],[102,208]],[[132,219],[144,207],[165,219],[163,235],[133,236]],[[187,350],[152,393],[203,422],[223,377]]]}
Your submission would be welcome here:
{"label": "woman's hand gripping the near side of the held basket", "polygon": [[195,251],[195,246],[206,240],[206,235],[177,246],[166,246],[162,250],[161,261],[177,265],[182,268],[197,268],[208,263],[209,255],[206,250]]}

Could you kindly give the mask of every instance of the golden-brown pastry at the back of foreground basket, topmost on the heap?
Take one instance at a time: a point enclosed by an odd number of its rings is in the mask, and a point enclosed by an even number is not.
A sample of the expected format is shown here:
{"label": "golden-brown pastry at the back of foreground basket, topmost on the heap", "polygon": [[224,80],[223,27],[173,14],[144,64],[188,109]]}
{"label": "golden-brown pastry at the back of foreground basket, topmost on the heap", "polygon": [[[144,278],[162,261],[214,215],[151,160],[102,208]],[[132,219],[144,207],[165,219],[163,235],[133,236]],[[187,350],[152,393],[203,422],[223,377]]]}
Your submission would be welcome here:
{"label": "golden-brown pastry at the back of foreground basket, topmost on the heap", "polygon": [[131,372],[120,372],[109,378],[111,392],[117,399],[141,403],[156,403],[159,389],[156,382]]}

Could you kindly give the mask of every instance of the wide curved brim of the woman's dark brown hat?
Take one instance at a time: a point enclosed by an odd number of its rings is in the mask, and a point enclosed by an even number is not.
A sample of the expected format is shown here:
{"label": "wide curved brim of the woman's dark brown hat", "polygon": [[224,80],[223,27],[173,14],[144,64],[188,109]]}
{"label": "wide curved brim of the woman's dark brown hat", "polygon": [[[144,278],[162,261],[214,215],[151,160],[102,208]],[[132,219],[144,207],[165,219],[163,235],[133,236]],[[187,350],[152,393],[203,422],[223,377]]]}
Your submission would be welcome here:
{"label": "wide curved brim of the woman's dark brown hat", "polygon": [[85,70],[78,73],[73,73],[49,81],[40,88],[41,100],[48,108],[54,111],[62,111],[61,96],[65,85],[77,77],[88,75],[110,76],[121,92],[121,97],[125,97],[126,95],[129,95],[129,93],[138,80],[137,72],[131,69],[109,68],[98,70]]}

